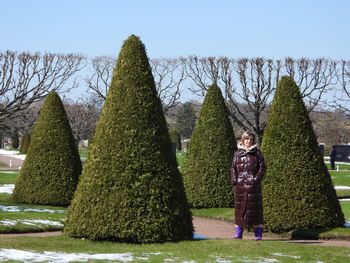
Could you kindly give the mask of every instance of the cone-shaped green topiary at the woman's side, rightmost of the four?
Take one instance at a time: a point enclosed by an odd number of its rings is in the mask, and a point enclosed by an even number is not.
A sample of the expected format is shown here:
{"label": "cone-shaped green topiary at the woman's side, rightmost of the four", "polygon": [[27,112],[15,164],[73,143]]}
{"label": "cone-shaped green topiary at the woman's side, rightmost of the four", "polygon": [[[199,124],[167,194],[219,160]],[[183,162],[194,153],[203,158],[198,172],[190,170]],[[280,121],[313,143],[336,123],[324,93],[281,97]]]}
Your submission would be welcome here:
{"label": "cone-shaped green topiary at the woman's side, rightmost of the four", "polygon": [[299,87],[291,77],[278,83],[261,149],[268,168],[263,205],[270,231],[344,224]]}

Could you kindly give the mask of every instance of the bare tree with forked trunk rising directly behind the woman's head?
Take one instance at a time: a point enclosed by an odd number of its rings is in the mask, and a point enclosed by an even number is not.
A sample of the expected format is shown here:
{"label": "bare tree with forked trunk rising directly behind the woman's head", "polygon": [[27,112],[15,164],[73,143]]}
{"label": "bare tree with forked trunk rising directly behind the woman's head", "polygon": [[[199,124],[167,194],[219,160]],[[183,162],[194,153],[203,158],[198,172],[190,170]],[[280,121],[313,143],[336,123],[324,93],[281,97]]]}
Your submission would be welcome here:
{"label": "bare tree with forked trunk rising directly behind the woman's head", "polygon": [[209,85],[217,83],[224,91],[230,117],[244,130],[252,130],[260,141],[264,115],[281,70],[281,62],[227,57],[190,56],[182,58],[192,92],[204,96]]}

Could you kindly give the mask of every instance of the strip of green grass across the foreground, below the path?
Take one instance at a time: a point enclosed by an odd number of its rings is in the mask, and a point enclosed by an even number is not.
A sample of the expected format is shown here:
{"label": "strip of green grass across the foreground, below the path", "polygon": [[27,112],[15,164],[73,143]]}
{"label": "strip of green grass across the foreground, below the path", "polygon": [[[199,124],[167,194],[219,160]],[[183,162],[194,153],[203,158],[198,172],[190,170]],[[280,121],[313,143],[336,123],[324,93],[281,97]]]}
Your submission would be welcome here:
{"label": "strip of green grass across the foreground, below the path", "polygon": [[309,245],[281,241],[202,240],[137,245],[94,242],[66,236],[1,237],[0,247],[37,252],[119,253],[128,255],[132,262],[347,262],[349,260],[349,248],[321,246],[310,248]]}

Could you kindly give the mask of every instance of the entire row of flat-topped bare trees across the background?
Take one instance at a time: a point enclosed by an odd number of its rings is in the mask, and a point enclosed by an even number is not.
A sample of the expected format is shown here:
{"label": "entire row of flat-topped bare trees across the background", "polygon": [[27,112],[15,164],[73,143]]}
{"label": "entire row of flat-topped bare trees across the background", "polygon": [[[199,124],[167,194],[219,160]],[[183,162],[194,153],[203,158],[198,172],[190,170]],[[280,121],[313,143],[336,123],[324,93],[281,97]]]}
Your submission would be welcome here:
{"label": "entire row of flat-topped bare trees across the background", "polygon": [[[150,65],[166,112],[180,103],[186,90],[205,96],[208,86],[217,83],[233,122],[241,129],[254,131],[260,139],[276,85],[283,75],[295,79],[310,112],[324,105],[349,109],[346,102],[350,102],[350,61],[346,60],[188,56],[150,59]],[[67,92],[78,83],[86,87],[90,98],[73,108],[81,112],[85,103],[89,112],[94,98],[93,103],[99,109],[114,66],[115,59],[108,56],[89,60],[79,54],[0,52],[0,125],[24,116],[24,110],[42,100],[49,91]],[[326,101],[327,94],[334,89],[338,95]]]}

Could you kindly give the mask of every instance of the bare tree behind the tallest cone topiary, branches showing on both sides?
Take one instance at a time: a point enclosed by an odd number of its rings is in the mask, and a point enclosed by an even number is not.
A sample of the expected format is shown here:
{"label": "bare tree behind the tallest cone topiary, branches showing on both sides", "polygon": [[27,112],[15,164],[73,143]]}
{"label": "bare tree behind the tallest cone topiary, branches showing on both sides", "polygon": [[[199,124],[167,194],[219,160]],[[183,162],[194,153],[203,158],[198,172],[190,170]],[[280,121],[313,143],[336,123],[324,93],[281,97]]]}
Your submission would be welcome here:
{"label": "bare tree behind the tallest cone topiary, branches showing on both sides", "polygon": [[[162,101],[164,111],[179,103],[180,87],[185,79],[184,68],[179,59],[150,59],[158,97]],[[91,60],[90,74],[84,78],[88,92],[106,100],[107,90],[112,79],[115,59],[99,56]]]}

